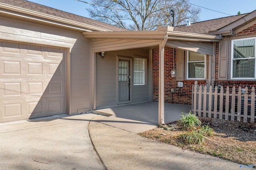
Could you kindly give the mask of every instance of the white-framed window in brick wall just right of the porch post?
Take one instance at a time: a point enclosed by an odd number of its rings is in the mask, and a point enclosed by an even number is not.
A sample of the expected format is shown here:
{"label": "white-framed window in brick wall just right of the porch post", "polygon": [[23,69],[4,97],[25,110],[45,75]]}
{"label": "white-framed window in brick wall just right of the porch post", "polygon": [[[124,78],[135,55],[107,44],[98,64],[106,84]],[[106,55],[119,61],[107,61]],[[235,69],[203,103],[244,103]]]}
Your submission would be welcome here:
{"label": "white-framed window in brick wall just right of the porch post", "polygon": [[206,55],[188,52],[187,55],[187,79],[205,79]]}

